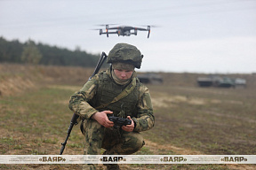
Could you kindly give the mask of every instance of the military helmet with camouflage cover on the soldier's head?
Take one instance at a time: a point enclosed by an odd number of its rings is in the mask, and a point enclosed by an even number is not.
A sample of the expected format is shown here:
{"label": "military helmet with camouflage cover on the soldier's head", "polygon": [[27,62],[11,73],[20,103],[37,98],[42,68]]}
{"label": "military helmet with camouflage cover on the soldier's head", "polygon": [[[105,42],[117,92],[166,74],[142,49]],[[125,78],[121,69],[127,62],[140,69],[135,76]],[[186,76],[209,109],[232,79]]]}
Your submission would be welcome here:
{"label": "military helmet with camouflage cover on the soldier's head", "polygon": [[124,62],[132,64],[136,68],[140,68],[142,58],[143,55],[141,55],[140,50],[135,46],[128,43],[117,43],[114,48],[109,51],[107,62]]}

